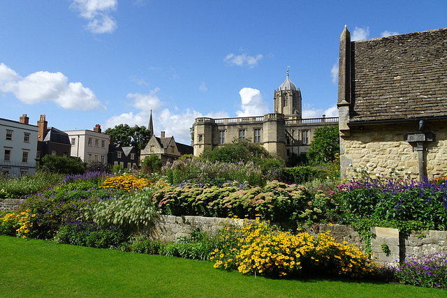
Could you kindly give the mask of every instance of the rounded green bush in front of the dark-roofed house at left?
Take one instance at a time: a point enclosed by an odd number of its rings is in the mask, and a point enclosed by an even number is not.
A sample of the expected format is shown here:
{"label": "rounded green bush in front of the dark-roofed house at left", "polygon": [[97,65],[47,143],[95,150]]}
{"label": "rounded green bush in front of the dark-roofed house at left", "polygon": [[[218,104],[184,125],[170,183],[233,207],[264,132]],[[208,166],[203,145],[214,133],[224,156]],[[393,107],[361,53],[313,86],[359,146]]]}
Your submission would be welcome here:
{"label": "rounded green bush in front of the dark-roofed house at left", "polygon": [[85,164],[79,157],[45,155],[39,162],[38,170],[59,174],[82,174],[85,172]]}

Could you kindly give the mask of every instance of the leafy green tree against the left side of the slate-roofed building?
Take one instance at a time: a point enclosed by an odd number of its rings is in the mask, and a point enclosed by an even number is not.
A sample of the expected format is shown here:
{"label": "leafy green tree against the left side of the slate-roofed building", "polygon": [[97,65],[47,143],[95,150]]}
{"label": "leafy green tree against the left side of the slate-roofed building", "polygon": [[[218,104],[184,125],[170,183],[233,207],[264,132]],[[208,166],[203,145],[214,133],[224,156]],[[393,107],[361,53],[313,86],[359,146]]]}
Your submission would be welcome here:
{"label": "leafy green tree against the left side of the slate-roofed building", "polygon": [[335,160],[340,151],[338,126],[321,126],[316,128],[314,140],[307,151],[307,161],[310,165],[321,165]]}

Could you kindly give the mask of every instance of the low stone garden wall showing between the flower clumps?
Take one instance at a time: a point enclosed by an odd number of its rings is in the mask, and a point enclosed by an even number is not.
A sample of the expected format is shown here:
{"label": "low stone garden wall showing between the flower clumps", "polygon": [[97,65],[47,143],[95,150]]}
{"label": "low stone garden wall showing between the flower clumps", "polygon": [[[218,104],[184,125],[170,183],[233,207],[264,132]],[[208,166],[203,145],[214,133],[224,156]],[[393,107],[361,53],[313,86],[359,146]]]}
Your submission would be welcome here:
{"label": "low stone garden wall showing between the flower clumps", "polygon": [[[191,230],[200,230],[215,234],[226,222],[242,224],[242,220],[231,218],[210,218],[203,216],[170,216],[161,215],[154,224],[149,236],[161,241],[176,241],[179,237],[189,237]],[[332,237],[337,242],[347,241],[353,246],[365,248],[365,241],[360,238],[358,232],[349,225],[315,224],[305,232],[318,234],[330,230]],[[420,231],[409,236],[400,234],[397,229],[371,228],[376,234],[371,240],[372,253],[378,262],[399,262],[409,255],[428,255],[430,253],[447,253],[447,231]]]}

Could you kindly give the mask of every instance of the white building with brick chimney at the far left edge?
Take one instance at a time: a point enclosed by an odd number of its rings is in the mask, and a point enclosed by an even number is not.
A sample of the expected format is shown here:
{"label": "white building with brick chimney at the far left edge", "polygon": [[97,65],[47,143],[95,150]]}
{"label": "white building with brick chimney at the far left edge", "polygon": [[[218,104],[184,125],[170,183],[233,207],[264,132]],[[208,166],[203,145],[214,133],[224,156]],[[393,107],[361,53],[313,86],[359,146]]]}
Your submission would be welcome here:
{"label": "white building with brick chimney at the far left edge", "polygon": [[38,127],[28,123],[26,114],[20,121],[0,118],[0,174],[20,177],[36,171]]}

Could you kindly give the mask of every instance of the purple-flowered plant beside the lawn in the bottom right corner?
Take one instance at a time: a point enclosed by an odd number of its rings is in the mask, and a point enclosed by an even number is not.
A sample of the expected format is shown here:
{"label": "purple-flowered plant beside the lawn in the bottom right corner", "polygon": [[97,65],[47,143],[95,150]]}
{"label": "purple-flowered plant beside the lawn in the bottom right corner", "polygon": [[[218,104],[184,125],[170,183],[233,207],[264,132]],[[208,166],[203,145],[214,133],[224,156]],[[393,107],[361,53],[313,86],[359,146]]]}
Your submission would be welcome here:
{"label": "purple-flowered plant beside the lawn in the bottom right corner", "polygon": [[427,288],[447,288],[447,254],[432,253],[406,258],[395,274],[401,283]]}

